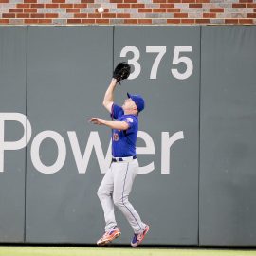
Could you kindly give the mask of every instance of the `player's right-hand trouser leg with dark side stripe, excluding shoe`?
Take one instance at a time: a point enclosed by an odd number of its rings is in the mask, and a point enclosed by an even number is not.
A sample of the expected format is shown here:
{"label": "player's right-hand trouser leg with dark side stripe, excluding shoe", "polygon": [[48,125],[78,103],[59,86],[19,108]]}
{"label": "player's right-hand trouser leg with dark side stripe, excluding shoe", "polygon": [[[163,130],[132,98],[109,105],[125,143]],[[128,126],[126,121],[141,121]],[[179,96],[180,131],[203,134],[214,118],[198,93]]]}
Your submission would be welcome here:
{"label": "player's right-hand trouser leg with dark side stripe, excluding shoe", "polygon": [[122,211],[134,232],[137,234],[142,233],[147,225],[141,221],[137,210],[128,200],[138,172],[137,159],[131,162],[114,163],[112,171],[114,174],[114,204]]}

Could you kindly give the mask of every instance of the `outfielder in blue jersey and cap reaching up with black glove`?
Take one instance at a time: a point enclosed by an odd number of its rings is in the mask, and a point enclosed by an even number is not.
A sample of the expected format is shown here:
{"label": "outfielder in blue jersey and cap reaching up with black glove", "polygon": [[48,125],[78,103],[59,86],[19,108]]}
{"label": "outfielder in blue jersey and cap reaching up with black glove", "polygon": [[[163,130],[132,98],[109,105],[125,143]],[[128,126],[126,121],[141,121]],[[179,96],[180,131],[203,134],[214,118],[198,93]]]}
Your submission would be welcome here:
{"label": "outfielder in blue jersey and cap reaching up with black glove", "polygon": [[112,121],[99,118],[89,119],[94,124],[106,125],[112,129],[112,163],[98,190],[105,218],[105,233],[97,241],[99,246],[110,243],[121,234],[115,219],[114,205],[122,211],[134,229],[132,247],[137,247],[149,231],[149,226],[141,221],[137,211],[128,201],[138,172],[136,155],[138,113],[144,109],[144,100],[140,95],[127,93],[128,99],[124,101],[122,107],[114,103],[114,90],[117,82],[127,78],[129,74],[130,66],[125,63],[119,64],[105,92],[103,105],[111,113]]}

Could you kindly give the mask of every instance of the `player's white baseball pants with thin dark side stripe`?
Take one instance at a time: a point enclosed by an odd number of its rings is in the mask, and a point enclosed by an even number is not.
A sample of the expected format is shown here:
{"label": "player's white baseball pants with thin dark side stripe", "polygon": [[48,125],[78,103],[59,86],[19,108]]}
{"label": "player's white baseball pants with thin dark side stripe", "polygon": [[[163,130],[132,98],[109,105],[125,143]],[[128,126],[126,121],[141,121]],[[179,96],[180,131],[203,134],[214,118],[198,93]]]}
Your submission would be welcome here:
{"label": "player's white baseball pants with thin dark side stripe", "polygon": [[133,159],[124,162],[113,162],[104,175],[97,194],[104,211],[105,231],[117,226],[114,205],[122,211],[135,233],[140,233],[145,229],[146,225],[128,201],[137,172],[138,162],[137,159]]}

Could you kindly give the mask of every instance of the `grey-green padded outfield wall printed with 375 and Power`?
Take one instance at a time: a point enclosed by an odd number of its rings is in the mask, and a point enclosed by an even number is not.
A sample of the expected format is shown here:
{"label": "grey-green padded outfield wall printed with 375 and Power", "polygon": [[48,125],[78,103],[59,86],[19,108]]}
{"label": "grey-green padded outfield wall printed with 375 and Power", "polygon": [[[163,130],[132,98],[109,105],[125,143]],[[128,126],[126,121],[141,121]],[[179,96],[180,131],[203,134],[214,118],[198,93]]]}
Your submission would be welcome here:
{"label": "grey-green padded outfield wall printed with 375 and Power", "polygon": [[[130,200],[145,244],[256,246],[256,27],[0,27],[0,242],[94,244],[101,101],[142,94]],[[132,229],[116,211],[129,244]]]}

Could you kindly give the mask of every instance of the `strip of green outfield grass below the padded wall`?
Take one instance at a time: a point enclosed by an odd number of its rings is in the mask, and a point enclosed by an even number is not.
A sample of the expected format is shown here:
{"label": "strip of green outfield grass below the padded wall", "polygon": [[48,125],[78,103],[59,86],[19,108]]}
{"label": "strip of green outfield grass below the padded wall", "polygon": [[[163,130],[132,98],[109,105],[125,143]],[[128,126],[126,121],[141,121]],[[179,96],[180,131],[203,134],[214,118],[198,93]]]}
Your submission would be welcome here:
{"label": "strip of green outfield grass below the padded wall", "polygon": [[256,250],[121,248],[121,247],[0,247],[0,256],[256,256]]}

